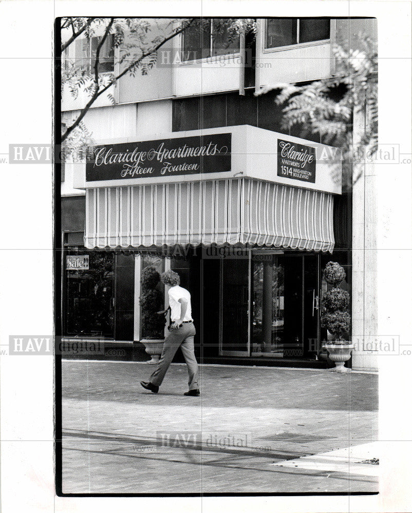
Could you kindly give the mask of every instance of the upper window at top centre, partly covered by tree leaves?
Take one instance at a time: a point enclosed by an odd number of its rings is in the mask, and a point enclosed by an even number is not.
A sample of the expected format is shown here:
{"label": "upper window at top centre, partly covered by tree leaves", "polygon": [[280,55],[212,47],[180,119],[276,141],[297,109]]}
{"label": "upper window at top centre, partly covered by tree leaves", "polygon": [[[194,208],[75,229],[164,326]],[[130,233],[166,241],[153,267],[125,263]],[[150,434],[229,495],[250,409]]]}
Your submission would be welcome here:
{"label": "upper window at top centre, partly covered by tree leaves", "polygon": [[196,61],[239,52],[239,36],[229,35],[228,19],[213,18],[183,34],[182,61]]}

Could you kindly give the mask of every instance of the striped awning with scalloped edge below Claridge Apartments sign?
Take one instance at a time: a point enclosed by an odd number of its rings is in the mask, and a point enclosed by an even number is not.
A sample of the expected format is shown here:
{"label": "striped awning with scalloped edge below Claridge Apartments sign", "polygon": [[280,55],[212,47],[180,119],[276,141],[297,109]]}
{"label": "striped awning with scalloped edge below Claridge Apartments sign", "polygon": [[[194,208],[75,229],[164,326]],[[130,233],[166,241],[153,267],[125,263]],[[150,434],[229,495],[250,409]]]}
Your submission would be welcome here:
{"label": "striped awning with scalloped edge below Claridge Apartments sign", "polygon": [[87,248],[333,250],[333,196],[247,178],[86,190]]}

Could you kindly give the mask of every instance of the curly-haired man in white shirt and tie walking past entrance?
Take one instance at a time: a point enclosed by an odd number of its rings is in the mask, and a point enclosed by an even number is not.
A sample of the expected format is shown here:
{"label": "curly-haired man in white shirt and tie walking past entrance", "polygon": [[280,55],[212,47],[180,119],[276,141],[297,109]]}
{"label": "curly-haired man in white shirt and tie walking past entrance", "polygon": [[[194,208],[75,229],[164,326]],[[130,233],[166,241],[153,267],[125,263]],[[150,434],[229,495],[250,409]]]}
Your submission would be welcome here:
{"label": "curly-haired man in white shirt and tie walking past entrance", "polygon": [[[192,319],[190,292],[180,287],[180,278],[177,272],[172,270],[163,272],[160,275],[160,280],[168,287],[172,324],[169,326],[169,333],[163,343],[162,355],[150,381],[141,381],[140,384],[143,388],[157,393],[177,349],[181,347],[189,372],[189,391],[184,392],[184,395],[197,397],[200,396],[200,392],[197,384],[198,366],[194,344],[196,329]],[[165,312],[166,310],[159,313]]]}

